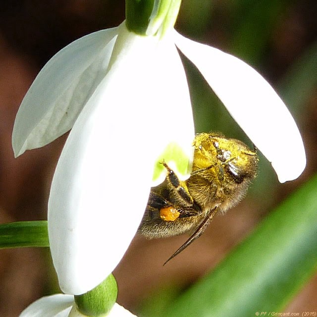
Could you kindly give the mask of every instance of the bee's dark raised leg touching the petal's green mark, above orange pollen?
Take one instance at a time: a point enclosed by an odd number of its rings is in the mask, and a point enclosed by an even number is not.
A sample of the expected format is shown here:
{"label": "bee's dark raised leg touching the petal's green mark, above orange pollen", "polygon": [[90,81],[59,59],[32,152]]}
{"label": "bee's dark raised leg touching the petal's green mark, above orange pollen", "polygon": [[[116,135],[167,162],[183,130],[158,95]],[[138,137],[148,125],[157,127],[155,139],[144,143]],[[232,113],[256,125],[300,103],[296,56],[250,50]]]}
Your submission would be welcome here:
{"label": "bee's dark raised leg touching the petal's green mark, above orange pollen", "polygon": [[[172,189],[174,193],[174,198],[176,198],[178,201],[181,201],[182,205],[193,207],[194,200],[192,196],[189,194],[185,182],[179,180],[174,171],[171,168],[169,168],[165,162],[163,162],[162,164],[167,169],[166,180],[169,184],[169,187]],[[177,196],[175,194],[177,194]]]}

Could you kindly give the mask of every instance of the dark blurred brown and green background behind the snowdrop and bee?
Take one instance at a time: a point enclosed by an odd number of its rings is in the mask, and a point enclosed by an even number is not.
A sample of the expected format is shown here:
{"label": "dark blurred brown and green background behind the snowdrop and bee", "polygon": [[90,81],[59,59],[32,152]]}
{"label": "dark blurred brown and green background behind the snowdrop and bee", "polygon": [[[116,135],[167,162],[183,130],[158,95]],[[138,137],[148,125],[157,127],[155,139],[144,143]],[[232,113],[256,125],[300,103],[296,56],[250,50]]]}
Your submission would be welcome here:
{"label": "dark blurred brown and green background behind the snowdrop and bee", "polygon": [[[200,239],[164,267],[162,264],[186,237],[153,241],[136,237],[114,272],[119,284],[118,302],[127,309],[137,313],[152,294],[180,291],[210,271],[272,207],[316,172],[316,17],[316,0],[183,0],[176,29],[237,55],[264,75],[296,118],[308,164],[298,180],[279,184],[269,163],[261,158],[258,179],[247,198],[218,216]],[[66,44],[116,26],[123,19],[123,0],[0,1],[1,223],[46,219],[53,170],[65,141],[63,136],[14,159],[14,117],[33,79]],[[250,144],[195,67],[185,58],[184,63],[197,132],[220,131]],[[37,298],[57,291],[51,276],[54,273],[47,249],[0,250],[0,317],[18,316]],[[285,312],[316,312],[316,303],[317,276]]]}

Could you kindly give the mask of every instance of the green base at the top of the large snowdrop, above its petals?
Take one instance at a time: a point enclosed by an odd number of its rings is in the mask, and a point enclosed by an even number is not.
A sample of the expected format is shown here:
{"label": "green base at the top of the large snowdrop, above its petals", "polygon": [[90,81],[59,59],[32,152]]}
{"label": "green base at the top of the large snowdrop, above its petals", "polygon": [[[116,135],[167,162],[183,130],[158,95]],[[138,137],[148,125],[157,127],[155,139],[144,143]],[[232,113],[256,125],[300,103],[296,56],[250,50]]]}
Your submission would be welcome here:
{"label": "green base at the top of the large snowdrop, above its petals", "polygon": [[138,35],[163,36],[175,24],[181,0],[126,0],[126,26]]}

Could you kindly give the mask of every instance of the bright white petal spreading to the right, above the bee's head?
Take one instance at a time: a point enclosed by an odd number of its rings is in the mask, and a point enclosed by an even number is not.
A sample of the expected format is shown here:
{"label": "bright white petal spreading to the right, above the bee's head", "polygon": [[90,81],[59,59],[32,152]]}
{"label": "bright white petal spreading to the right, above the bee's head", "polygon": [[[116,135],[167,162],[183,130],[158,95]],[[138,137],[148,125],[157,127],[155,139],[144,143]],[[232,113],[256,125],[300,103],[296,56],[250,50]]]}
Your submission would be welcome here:
{"label": "bright white petal spreading to the right, above the bee's head", "polygon": [[177,47],[196,65],[230,114],[272,163],[280,182],[306,166],[297,125],[273,88],[251,66],[230,54],[175,32]]}

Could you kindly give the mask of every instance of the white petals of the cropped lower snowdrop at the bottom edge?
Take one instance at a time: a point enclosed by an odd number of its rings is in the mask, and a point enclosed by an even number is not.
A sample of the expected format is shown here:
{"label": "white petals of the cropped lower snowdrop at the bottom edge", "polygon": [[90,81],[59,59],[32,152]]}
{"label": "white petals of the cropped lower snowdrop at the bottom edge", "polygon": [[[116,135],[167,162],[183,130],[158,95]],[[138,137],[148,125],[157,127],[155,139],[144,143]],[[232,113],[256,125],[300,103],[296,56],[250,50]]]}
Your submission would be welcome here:
{"label": "white petals of the cropped lower snowdrop at the bottom edge", "polygon": [[[85,317],[74,305],[74,296],[55,294],[42,297],[28,306],[20,317]],[[114,304],[108,317],[133,317],[132,313],[117,303]]]}

